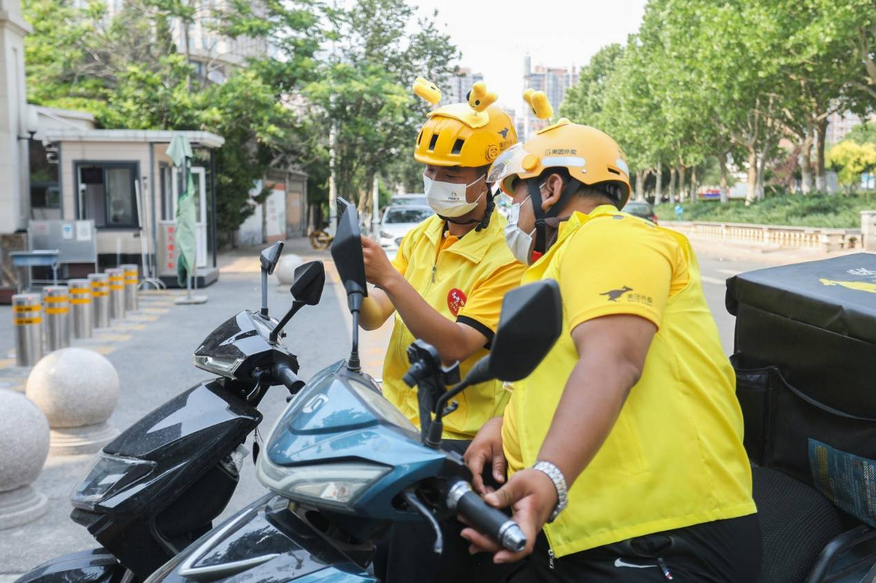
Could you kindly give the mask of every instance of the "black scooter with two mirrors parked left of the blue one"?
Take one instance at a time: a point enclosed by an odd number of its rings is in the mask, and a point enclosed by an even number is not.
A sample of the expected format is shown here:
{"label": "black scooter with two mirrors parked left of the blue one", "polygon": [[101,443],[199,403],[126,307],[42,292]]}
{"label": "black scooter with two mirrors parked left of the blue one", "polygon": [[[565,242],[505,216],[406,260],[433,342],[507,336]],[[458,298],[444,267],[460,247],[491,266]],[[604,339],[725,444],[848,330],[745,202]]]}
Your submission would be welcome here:
{"label": "black scooter with two mirrors parked left of the blue one", "polygon": [[244,440],[262,420],[258,404],[273,385],[294,395],[304,383],[283,327],[319,303],[321,262],[300,265],[281,320],[268,315],[267,277],[283,243],[262,251],[262,306],[217,327],[194,352],[194,365],[217,378],[173,397],[104,446],[71,499],[70,517],[102,548],[54,558],[16,583],[138,581],[213,526],[237,488]]}

